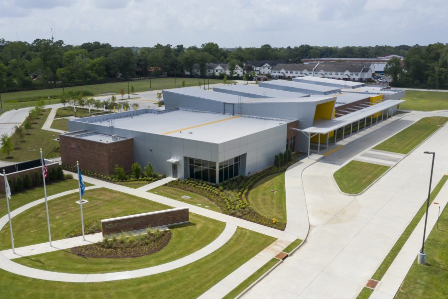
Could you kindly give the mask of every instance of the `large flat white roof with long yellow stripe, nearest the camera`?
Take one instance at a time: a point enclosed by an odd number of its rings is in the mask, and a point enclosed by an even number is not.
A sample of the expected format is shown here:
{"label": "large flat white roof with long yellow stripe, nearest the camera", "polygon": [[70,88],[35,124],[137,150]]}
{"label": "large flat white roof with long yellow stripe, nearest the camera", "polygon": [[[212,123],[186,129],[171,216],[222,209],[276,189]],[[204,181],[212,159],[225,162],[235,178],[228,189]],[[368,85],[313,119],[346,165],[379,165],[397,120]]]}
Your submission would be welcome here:
{"label": "large flat white roof with long yellow stripe, nearest the camera", "polygon": [[[120,117],[125,115],[124,117]],[[241,115],[199,112],[185,109],[164,111],[161,113],[142,113],[126,116],[126,112],[104,115],[101,119],[89,118],[70,120],[136,132],[152,133],[208,143],[223,143],[229,140],[274,128],[293,120],[268,119]],[[100,121],[101,120],[101,121]]]}

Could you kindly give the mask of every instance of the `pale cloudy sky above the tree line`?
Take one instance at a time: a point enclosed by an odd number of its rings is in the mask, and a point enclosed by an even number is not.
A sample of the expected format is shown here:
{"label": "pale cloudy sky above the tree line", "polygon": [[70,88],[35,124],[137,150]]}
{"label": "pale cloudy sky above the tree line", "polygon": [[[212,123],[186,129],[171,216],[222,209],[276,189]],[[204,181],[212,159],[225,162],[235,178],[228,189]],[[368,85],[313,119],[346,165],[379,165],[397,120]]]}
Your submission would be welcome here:
{"label": "pale cloudy sky above the tree line", "polygon": [[447,0],[1,0],[0,38],[113,46],[448,42]]}

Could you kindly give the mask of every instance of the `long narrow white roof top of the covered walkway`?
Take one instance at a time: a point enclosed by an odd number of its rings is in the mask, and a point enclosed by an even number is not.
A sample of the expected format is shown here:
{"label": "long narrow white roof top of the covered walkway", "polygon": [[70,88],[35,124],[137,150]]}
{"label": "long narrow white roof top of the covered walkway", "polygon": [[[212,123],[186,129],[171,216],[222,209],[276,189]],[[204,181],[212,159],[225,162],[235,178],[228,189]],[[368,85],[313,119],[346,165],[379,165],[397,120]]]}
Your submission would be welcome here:
{"label": "long narrow white roof top of the covered walkway", "polygon": [[332,120],[317,120],[314,122],[313,126],[303,129],[302,131],[310,134],[327,134],[329,132],[335,131],[336,129],[342,128],[343,126],[370,117],[375,113],[386,110],[403,102],[405,101],[386,100],[370,107],[366,107],[364,109],[360,109],[358,111],[343,115],[341,117],[334,118]]}

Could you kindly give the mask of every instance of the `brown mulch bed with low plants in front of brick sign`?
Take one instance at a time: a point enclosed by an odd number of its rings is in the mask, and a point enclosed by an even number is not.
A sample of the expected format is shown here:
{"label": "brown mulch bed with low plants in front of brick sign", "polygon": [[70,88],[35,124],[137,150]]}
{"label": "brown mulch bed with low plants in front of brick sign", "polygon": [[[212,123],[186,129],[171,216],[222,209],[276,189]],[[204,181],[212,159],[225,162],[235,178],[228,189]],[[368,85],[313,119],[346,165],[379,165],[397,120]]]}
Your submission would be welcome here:
{"label": "brown mulch bed with low plants in front of brick sign", "polygon": [[[135,236],[138,240],[139,236]],[[116,240],[113,243],[112,248],[106,248],[103,246],[103,242],[78,246],[71,248],[71,252],[89,258],[108,258],[108,259],[120,259],[120,258],[136,258],[145,255],[155,253],[163,249],[171,240],[171,231],[166,230],[161,232],[159,237],[149,236],[147,242],[142,242],[142,244],[126,245]],[[112,243],[112,240],[110,240]]]}

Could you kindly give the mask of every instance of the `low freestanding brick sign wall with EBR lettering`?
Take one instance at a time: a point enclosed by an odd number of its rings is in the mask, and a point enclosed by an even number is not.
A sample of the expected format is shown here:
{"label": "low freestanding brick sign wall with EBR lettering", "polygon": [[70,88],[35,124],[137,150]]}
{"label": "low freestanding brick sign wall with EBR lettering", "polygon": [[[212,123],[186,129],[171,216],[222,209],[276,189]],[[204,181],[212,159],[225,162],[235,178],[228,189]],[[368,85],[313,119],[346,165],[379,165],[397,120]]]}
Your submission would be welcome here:
{"label": "low freestanding brick sign wall with EBR lettering", "polygon": [[[104,221],[104,220],[103,220]],[[101,223],[103,236],[189,221],[188,208],[169,209],[147,215],[110,220]]]}

